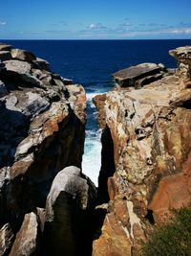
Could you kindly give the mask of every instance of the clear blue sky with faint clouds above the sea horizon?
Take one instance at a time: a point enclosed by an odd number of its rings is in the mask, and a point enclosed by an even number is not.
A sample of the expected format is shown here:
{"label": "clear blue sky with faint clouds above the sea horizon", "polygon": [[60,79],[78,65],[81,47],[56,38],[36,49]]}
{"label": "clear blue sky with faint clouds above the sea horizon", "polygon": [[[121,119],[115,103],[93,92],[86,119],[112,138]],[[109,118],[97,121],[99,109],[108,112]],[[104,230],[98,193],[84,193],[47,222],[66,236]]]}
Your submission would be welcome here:
{"label": "clear blue sky with faint clouds above the sea horizon", "polygon": [[0,39],[191,38],[191,0],[6,0]]}

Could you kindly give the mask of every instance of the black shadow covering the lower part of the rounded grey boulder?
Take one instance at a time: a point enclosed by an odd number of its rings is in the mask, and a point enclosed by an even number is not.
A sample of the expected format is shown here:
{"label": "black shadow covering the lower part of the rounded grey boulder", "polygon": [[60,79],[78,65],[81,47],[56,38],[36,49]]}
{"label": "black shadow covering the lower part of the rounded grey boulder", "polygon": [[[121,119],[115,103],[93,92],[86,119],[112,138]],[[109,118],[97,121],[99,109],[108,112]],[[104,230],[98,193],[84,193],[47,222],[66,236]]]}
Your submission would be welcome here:
{"label": "black shadow covering the lower part of the rounded grey boulder", "polygon": [[53,221],[44,228],[43,255],[91,256],[92,213],[82,210],[69,193],[60,192],[53,203]]}

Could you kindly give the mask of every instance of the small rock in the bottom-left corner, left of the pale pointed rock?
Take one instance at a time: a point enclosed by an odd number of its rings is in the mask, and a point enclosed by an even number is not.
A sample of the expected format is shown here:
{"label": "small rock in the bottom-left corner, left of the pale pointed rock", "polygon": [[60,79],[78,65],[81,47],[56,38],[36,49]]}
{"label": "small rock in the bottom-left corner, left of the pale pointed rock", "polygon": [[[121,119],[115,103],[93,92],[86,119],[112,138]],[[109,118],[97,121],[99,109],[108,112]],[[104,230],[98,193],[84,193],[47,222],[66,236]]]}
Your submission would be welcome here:
{"label": "small rock in the bottom-left corner, left of the pale pointed rock", "polygon": [[0,230],[0,255],[8,255],[11,250],[14,235],[10,223],[5,224]]}

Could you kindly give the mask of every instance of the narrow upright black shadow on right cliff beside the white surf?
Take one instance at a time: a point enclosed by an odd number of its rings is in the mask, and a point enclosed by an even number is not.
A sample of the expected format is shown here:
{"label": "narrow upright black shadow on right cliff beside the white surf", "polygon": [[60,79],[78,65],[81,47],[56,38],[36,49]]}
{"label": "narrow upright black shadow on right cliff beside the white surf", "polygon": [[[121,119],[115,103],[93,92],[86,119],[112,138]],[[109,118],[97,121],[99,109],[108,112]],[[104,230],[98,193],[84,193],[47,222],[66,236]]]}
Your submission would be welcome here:
{"label": "narrow upright black shadow on right cliff beside the white surf", "polygon": [[102,131],[101,143],[101,169],[98,176],[97,204],[109,201],[107,180],[115,173],[114,142],[108,127]]}

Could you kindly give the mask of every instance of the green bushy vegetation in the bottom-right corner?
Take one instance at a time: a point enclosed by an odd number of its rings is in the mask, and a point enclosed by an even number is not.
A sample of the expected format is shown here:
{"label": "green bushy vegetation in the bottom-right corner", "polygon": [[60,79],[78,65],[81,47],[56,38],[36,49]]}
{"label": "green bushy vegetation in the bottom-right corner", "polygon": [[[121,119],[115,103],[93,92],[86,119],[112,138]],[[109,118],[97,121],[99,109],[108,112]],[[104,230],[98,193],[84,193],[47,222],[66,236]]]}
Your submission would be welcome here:
{"label": "green bushy vegetation in the bottom-right corner", "polygon": [[141,256],[191,256],[191,206],[175,211],[175,218],[157,227]]}

